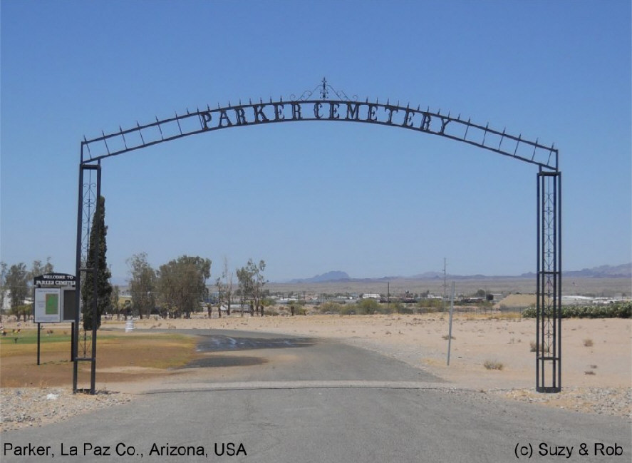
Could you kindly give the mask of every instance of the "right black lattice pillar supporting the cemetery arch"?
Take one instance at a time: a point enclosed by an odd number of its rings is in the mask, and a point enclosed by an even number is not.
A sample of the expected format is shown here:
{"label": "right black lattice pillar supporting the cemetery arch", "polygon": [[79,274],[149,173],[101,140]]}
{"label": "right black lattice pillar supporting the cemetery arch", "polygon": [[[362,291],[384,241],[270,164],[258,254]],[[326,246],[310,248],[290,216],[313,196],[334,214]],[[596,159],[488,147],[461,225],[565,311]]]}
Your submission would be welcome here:
{"label": "right black lattice pillar supporting the cemetery arch", "polygon": [[537,176],[536,390],[561,391],[561,173]]}

